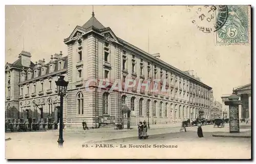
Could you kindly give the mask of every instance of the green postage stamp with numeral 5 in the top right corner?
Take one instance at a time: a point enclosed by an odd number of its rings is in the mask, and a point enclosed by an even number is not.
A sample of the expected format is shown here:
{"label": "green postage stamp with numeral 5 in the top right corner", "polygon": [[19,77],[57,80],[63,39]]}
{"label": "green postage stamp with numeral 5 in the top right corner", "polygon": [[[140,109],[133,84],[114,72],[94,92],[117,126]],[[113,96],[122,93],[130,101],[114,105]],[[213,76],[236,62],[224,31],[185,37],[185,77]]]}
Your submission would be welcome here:
{"label": "green postage stamp with numeral 5 in the top right corner", "polygon": [[[219,13],[216,13],[217,17]],[[228,6],[225,24],[216,31],[217,44],[240,44],[249,42],[248,6]]]}

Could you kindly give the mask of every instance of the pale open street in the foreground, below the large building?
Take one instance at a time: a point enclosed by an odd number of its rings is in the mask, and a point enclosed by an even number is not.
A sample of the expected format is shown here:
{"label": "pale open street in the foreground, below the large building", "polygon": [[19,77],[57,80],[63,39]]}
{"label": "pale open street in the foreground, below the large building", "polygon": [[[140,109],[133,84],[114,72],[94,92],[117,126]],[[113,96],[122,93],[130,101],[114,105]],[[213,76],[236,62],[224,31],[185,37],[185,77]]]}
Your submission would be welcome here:
{"label": "pale open street in the foreground, below the large building", "polygon": [[[241,131],[248,131],[250,126],[241,126]],[[148,140],[138,140],[137,130],[125,132],[65,132],[64,147],[58,148],[58,130],[44,132],[14,132],[6,133],[7,158],[126,158],[125,151],[133,155],[140,152],[148,153],[147,157],[158,158],[250,158],[250,139],[214,138],[213,132],[228,131],[224,128],[214,128],[213,125],[203,126],[204,138],[197,137],[197,127],[187,127],[188,132],[179,132],[180,127],[149,129]],[[95,148],[96,144],[113,144],[112,149]],[[154,148],[142,151],[145,148],[119,148],[120,144],[148,144],[148,145],[177,145],[178,148]],[[93,146],[90,148],[82,145]],[[108,150],[108,153],[103,153]],[[22,150],[22,151],[20,151]],[[237,151],[233,151],[237,150]],[[98,155],[101,154],[100,156]],[[198,155],[199,154],[199,155]],[[143,158],[143,156],[138,156]],[[144,156],[145,157],[145,156]]]}

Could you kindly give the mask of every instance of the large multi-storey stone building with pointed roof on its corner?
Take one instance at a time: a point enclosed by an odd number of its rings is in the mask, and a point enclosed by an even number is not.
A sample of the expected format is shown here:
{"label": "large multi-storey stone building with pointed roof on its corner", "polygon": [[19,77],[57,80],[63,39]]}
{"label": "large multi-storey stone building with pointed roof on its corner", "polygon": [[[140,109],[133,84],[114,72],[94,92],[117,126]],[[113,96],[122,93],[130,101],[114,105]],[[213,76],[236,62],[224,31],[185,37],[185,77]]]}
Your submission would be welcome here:
{"label": "large multi-storey stone building with pointed roof on its corner", "polygon": [[[31,54],[23,51],[13,64],[6,64],[6,117],[36,120],[50,117],[58,122],[59,98],[54,81],[65,75],[69,81],[63,104],[67,128],[102,127],[127,118],[123,106],[131,110],[131,125],[149,120],[150,124],[165,124],[182,119],[195,119],[199,110],[210,118],[211,87],[203,84],[189,71],[181,71],[118,38],[92,14],[82,26],[76,26],[64,40],[67,56],[62,52],[51,56],[45,64],[30,61]],[[90,80],[147,80],[165,87],[168,92],[146,89],[111,91],[99,89]],[[154,79],[160,79],[155,82]],[[166,83],[165,83],[165,82]],[[35,103],[33,103],[35,102]],[[34,105],[37,104],[37,107]],[[39,110],[40,108],[40,110]],[[26,116],[25,116],[26,115]]]}

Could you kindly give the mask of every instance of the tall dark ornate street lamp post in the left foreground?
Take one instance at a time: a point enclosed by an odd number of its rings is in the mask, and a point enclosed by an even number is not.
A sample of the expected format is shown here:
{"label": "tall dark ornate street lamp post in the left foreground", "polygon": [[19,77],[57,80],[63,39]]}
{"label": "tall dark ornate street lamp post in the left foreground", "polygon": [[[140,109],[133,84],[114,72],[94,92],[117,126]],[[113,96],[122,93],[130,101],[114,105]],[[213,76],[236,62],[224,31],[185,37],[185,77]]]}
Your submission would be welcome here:
{"label": "tall dark ornate street lamp post in the left foreground", "polygon": [[59,147],[63,146],[63,97],[66,95],[69,81],[64,80],[65,76],[60,75],[59,79],[55,81],[57,86],[58,95],[60,96],[60,118],[59,118]]}

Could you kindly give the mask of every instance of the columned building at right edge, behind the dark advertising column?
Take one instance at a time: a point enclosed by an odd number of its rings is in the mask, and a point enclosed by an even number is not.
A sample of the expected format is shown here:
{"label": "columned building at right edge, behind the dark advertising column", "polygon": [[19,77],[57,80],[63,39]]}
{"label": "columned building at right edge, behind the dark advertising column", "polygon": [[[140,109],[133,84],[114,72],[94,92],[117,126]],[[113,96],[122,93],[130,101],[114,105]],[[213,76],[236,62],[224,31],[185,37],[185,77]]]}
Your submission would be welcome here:
{"label": "columned building at right edge, behind the dark advertising column", "polygon": [[[239,105],[239,119],[249,119],[251,120],[251,84],[247,84],[242,87],[237,87],[234,89],[239,96],[239,100],[242,101],[242,105]],[[227,117],[229,117],[228,113],[228,105],[225,105],[225,101],[228,100],[228,97],[231,94],[223,95],[221,97],[223,102],[223,111],[227,113]]]}

